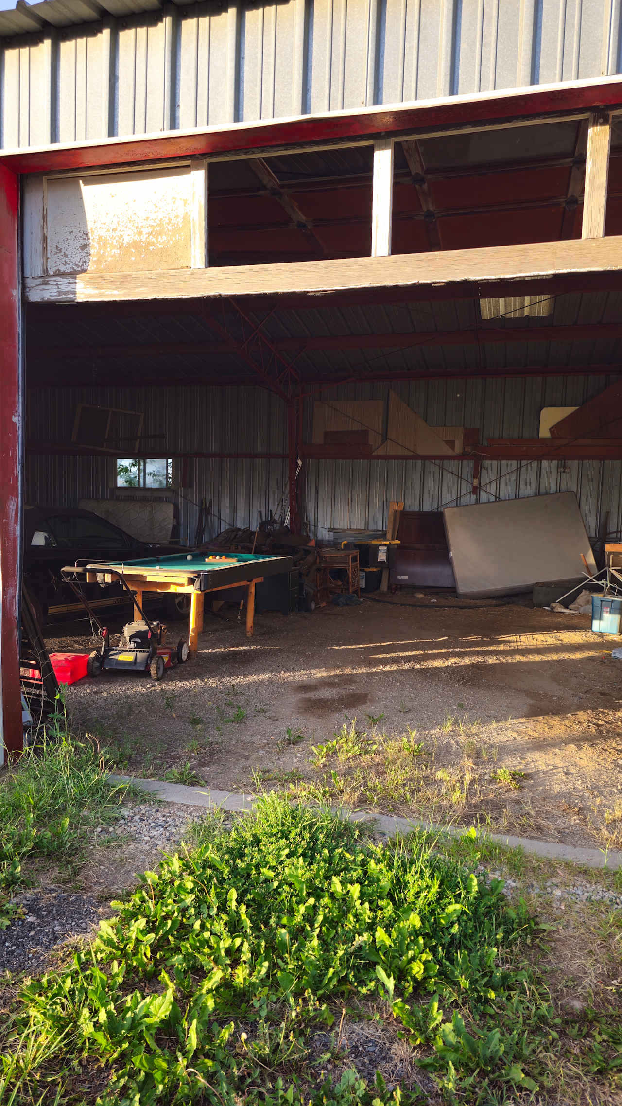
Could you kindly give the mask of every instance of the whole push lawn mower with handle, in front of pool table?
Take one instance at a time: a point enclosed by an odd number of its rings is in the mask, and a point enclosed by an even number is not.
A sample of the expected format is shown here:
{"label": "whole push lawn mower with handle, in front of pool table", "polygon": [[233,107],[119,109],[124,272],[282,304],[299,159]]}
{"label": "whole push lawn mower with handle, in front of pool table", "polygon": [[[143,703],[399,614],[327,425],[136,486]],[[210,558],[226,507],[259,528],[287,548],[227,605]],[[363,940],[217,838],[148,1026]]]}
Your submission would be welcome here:
{"label": "whole push lawn mower with handle, in front of pool table", "polygon": [[102,671],[148,671],[155,680],[161,680],[167,668],[173,668],[177,664],[188,660],[188,641],[180,638],[176,646],[166,644],[167,627],[164,623],[150,622],[147,618],[120,573],[117,574],[118,582],[125,587],[143,618],[127,623],[123,628],[119,644],[112,645],[107,627],[102,625],[80,586],[81,573],[85,573],[85,570],[78,564],[62,571],[63,578],[80,598],[92,624],[95,623],[98,627],[101,645],[88,657],[86,670],[89,676],[99,676]]}

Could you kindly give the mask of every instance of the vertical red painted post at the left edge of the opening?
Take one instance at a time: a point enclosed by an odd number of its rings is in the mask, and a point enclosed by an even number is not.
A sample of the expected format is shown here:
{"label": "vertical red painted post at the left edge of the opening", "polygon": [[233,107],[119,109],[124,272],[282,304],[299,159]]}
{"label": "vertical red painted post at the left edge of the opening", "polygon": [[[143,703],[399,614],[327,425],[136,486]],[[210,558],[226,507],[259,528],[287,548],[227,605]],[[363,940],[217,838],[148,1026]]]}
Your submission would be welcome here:
{"label": "vertical red painted post at the left edge of the opening", "polygon": [[[20,295],[19,180],[0,165],[0,593],[2,737],[4,749],[23,744],[20,691]],[[0,739],[1,740],[1,739]]]}

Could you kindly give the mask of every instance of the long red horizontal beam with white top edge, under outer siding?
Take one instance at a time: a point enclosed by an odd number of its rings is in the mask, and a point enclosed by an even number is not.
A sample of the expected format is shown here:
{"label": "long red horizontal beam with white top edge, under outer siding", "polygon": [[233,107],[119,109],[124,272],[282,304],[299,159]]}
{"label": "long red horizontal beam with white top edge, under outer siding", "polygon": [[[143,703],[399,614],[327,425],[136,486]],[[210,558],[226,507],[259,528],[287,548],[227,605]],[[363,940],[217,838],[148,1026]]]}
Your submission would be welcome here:
{"label": "long red horizontal beam with white top edge, under outer siding", "polygon": [[[149,161],[159,158],[199,157],[209,154],[268,149],[273,146],[313,145],[349,138],[370,139],[379,134],[430,131],[462,124],[514,122],[524,116],[547,116],[622,105],[622,81],[548,85],[497,95],[452,96],[419,104],[390,105],[359,112],[305,115],[270,123],[241,123],[219,129],[170,132],[101,143],[52,146],[2,156],[0,164],[15,173],[45,173],[85,166]],[[528,121],[526,121],[528,122]]]}

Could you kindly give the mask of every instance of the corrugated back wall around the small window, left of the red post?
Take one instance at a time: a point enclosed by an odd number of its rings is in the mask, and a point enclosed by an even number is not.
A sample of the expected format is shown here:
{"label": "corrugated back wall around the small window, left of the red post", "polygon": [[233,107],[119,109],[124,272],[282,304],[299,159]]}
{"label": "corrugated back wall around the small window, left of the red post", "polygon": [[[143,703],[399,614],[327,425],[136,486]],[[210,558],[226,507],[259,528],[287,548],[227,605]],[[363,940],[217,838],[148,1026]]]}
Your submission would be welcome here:
{"label": "corrugated back wall around the small window, left of the red post", "polygon": [[[287,452],[283,405],[260,388],[33,389],[28,393],[27,440],[71,442],[77,403],[143,411],[145,436],[164,435],[172,452]],[[155,445],[154,452],[161,451]],[[287,501],[285,459],[190,458],[188,476],[187,487],[144,494],[164,494],[177,503],[180,538],[190,543],[203,494],[211,498],[214,515],[205,538],[230,525],[255,526],[257,511],[265,515],[274,510],[284,493]],[[113,499],[114,483],[114,457],[27,456],[30,503],[75,507],[80,499]]]}

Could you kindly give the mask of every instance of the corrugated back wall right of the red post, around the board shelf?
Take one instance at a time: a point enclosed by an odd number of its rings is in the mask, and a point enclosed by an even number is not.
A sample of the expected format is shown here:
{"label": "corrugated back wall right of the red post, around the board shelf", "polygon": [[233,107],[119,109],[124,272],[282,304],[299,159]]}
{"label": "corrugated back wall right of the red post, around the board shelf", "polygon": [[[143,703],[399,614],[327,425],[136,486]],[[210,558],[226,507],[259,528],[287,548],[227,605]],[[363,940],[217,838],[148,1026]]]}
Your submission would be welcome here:
{"label": "corrugated back wall right of the red post, around the board shelf", "polygon": [[[478,427],[488,437],[537,437],[542,407],[577,405],[602,392],[605,376],[421,380],[393,384],[398,395],[432,426]],[[372,399],[386,385],[347,385],[326,399]],[[312,405],[305,411],[310,438]],[[390,500],[412,511],[574,491],[588,533],[597,536],[609,512],[610,532],[622,530],[620,461],[491,461],[482,466],[479,492],[472,491],[471,461],[316,461],[306,462],[305,517],[310,532],[326,541],[333,526],[383,530]]]}

